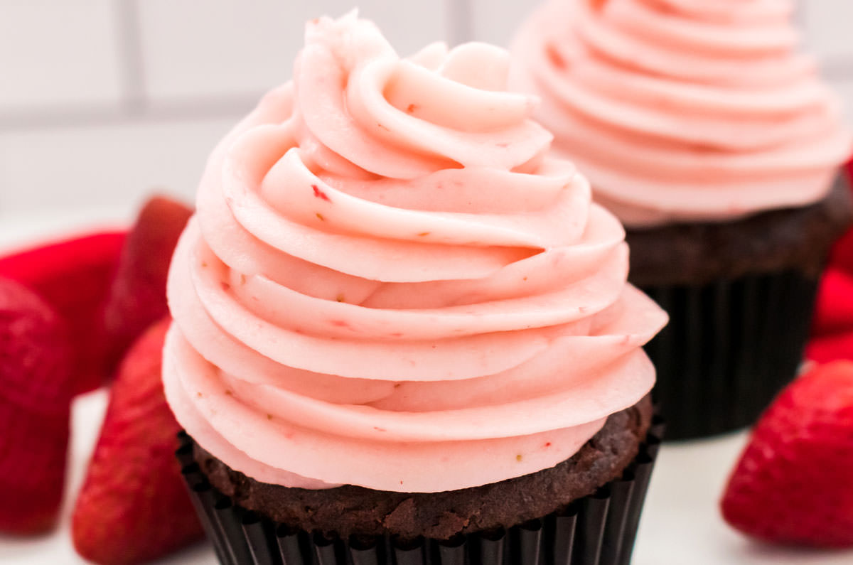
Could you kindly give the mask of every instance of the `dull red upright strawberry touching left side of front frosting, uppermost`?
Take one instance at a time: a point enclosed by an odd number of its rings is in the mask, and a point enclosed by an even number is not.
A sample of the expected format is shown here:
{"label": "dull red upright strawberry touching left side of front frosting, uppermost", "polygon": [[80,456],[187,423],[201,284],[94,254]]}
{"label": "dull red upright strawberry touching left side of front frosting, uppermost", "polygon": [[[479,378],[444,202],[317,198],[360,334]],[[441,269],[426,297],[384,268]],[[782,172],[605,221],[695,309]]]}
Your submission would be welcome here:
{"label": "dull red upright strawberry touching left side of front frosting, uppermost", "polygon": [[165,281],[171,255],[192,210],[162,196],[152,198],[136,219],[103,312],[114,367],[136,338],[168,312]]}

